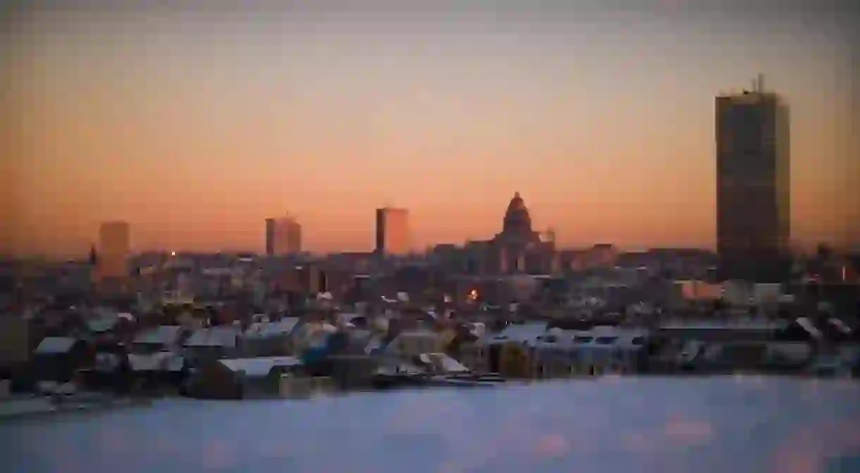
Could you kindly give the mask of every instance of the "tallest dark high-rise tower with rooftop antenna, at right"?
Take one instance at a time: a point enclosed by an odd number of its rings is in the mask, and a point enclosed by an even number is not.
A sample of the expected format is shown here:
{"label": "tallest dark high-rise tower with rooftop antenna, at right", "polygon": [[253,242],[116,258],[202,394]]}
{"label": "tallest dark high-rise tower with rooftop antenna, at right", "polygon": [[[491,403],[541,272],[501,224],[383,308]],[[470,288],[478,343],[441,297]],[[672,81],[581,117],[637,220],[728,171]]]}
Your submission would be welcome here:
{"label": "tallest dark high-rise tower with rooftop antenna, at right", "polygon": [[716,97],[716,246],[733,279],[779,279],[789,253],[789,107],[753,90]]}

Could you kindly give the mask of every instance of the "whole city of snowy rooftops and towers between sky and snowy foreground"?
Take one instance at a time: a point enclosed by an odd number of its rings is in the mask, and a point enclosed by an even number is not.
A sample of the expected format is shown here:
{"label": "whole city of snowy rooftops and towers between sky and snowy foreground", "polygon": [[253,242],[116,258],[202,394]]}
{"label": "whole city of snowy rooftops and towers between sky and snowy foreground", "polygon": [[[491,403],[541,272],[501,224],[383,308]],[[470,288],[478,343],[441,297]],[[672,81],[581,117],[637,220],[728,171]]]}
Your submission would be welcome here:
{"label": "whole city of snowy rooftops and towers between sky and snowy foreground", "polygon": [[376,209],[372,251],[332,255],[290,215],[266,219],[265,255],[132,255],[106,222],[89,261],[0,264],[0,396],[860,376],[860,256],[789,254],[788,117],[760,78],[716,97],[716,254],[559,249],[518,192],[492,237],[423,255],[402,208]]}

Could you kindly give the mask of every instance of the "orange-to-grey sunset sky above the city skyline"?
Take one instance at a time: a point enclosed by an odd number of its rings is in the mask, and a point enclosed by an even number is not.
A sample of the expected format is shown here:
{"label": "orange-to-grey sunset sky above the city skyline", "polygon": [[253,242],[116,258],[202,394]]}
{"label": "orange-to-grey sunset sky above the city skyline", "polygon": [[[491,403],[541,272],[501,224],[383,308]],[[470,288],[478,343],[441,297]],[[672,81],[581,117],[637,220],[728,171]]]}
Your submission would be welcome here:
{"label": "orange-to-grey sunset sky above the city skyline", "polygon": [[793,239],[857,237],[851,2],[114,3],[3,14],[18,253],[111,219],[138,250],[261,250],[284,212],[364,250],[386,204],[423,248],[491,237],[514,191],[563,245],[710,247],[714,97],[759,72],[791,106]]}

